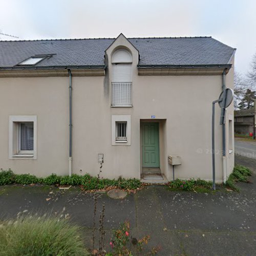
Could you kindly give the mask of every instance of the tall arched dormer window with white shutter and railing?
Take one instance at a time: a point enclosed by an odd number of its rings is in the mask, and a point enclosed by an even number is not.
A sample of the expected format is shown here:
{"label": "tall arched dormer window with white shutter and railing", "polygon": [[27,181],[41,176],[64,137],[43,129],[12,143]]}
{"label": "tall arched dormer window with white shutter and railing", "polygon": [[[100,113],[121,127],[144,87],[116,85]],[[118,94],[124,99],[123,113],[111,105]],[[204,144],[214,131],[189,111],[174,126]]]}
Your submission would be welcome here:
{"label": "tall arched dormer window with white shutter and railing", "polygon": [[123,49],[112,55],[112,106],[132,106],[132,61],[131,53]]}

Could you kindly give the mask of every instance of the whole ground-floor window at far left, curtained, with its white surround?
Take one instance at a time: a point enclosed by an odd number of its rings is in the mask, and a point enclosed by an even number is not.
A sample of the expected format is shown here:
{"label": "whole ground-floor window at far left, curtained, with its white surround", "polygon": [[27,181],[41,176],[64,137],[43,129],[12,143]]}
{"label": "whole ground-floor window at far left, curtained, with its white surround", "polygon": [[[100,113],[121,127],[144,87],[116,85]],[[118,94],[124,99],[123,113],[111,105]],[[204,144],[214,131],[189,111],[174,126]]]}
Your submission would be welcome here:
{"label": "whole ground-floor window at far left, curtained, with its white surround", "polygon": [[9,117],[9,158],[36,159],[36,116]]}

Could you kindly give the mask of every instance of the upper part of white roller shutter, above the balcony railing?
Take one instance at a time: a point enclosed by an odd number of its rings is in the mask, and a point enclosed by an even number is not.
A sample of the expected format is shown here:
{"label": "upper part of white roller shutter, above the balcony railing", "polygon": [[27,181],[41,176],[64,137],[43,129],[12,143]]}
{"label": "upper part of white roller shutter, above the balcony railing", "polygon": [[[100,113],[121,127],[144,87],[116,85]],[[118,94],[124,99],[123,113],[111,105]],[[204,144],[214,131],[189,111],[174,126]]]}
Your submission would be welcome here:
{"label": "upper part of white roller shutter, above the balcony railing", "polygon": [[112,82],[132,82],[132,64],[113,64]]}

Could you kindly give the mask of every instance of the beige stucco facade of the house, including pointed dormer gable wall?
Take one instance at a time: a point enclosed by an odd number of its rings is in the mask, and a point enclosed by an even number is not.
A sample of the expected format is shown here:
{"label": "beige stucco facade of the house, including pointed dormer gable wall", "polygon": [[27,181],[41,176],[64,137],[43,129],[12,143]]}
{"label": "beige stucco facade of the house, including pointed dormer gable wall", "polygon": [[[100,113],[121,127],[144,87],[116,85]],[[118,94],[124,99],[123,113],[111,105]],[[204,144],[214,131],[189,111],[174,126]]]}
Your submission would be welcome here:
{"label": "beige stucco facade of the house, including pointed dormer gable wall", "polygon": [[[129,108],[111,107],[111,55],[119,48],[128,49],[133,56],[133,106]],[[154,115],[153,121],[159,122],[161,173],[172,179],[168,155],[177,155],[182,164],[175,168],[176,178],[210,180],[211,106],[222,91],[221,73],[139,75],[138,54],[129,41],[119,37],[106,50],[104,75],[73,75],[72,172],[96,175],[98,154],[102,153],[102,177],[140,179],[141,123],[152,121]],[[233,67],[226,75],[226,86],[233,87]],[[36,159],[9,158],[9,116],[12,115],[37,116]],[[113,115],[131,116],[131,145],[112,145]],[[65,73],[49,77],[0,77],[0,118],[1,168],[41,177],[69,174],[69,77]],[[216,180],[222,182],[219,119],[220,108],[216,105]],[[230,146],[233,128],[228,128],[229,124],[233,125],[232,104],[225,119],[227,176],[234,165],[233,146]]]}

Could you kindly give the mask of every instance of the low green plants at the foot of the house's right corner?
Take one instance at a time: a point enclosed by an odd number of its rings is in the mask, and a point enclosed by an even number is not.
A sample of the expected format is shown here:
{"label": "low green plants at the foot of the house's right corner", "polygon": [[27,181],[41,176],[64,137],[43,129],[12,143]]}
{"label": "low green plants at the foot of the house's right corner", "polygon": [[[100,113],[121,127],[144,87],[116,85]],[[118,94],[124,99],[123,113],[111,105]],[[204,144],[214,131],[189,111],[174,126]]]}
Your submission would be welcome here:
{"label": "low green plants at the foot of the house's right corner", "polygon": [[252,175],[249,168],[236,165],[234,166],[233,172],[229,175],[225,185],[234,191],[240,191],[239,187],[236,186],[236,182],[248,182],[248,177]]}

